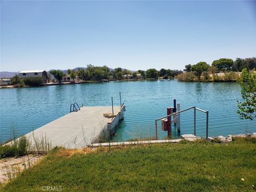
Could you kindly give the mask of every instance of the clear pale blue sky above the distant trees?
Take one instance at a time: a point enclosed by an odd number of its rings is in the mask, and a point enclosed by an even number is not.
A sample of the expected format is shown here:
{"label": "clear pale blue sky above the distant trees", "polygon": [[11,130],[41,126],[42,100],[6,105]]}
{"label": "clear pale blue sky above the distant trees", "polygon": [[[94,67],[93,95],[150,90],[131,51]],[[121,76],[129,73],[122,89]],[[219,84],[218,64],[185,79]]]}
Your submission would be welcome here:
{"label": "clear pale blue sky above the distant trees", "polygon": [[1,71],[255,56],[255,1],[1,1]]}

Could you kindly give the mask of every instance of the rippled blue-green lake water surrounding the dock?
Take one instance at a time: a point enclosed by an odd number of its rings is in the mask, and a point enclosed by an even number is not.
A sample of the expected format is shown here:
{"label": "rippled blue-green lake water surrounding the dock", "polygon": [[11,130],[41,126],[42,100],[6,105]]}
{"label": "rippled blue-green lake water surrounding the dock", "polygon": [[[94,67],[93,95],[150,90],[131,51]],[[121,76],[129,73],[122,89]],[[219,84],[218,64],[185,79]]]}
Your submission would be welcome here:
{"label": "rippled blue-green lake water surrounding the dock", "polygon": [[[239,119],[237,83],[178,82],[177,80],[109,82],[1,89],[1,140],[10,138],[11,127],[25,134],[69,113],[70,103],[85,106],[119,105],[119,91],[126,113],[113,140],[155,136],[155,119],[166,115],[173,99],[181,109],[196,106],[209,110],[209,135],[256,132],[256,122]],[[205,114],[197,111],[197,135],[205,137]],[[161,122],[158,123],[160,127]],[[159,128],[161,129],[161,128]],[[194,132],[193,110],[181,115],[181,134]],[[159,130],[159,138],[166,132]],[[177,133],[173,127],[173,135]]]}

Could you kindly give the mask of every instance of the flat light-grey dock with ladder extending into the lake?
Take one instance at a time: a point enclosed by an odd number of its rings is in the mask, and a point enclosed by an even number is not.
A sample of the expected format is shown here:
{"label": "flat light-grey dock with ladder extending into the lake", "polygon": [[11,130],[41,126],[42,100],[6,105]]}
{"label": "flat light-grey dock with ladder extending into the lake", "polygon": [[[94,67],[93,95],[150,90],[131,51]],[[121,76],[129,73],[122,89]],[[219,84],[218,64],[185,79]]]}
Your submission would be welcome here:
{"label": "flat light-grey dock with ladder extending into the lake", "polygon": [[102,134],[115,131],[115,126],[124,118],[125,106],[114,106],[114,117],[104,117],[104,113],[112,114],[111,106],[82,107],[81,110],[60,117],[33,132],[27,133],[31,143],[42,136],[50,141],[51,146],[81,148],[98,142]]}

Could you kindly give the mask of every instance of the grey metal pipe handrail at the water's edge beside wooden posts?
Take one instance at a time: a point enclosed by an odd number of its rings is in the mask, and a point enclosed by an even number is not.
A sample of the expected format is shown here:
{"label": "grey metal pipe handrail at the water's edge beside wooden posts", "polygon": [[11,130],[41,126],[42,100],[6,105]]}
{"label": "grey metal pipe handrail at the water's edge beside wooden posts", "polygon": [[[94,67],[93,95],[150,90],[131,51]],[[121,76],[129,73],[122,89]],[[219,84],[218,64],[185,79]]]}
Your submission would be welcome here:
{"label": "grey metal pipe handrail at the water's edge beside wooden posts", "polygon": [[[177,111],[176,113],[173,113],[173,114],[170,114],[170,115],[166,115],[164,117],[160,117],[160,118],[157,118],[155,119],[155,128],[156,128],[156,140],[157,140],[157,121],[160,120],[160,119],[163,119],[163,118],[166,118],[166,117],[171,117],[173,115],[177,115],[177,114],[180,114],[184,111],[187,111],[187,110],[190,110],[190,109],[193,109],[194,108],[194,135],[196,135],[196,110],[199,110],[203,113],[206,113],[206,139],[208,139],[208,132],[209,132],[209,111],[206,111],[206,110],[203,110],[203,109],[199,109],[199,108],[196,108],[196,106],[194,107],[189,107],[187,109],[183,109],[183,110],[180,110],[180,111]],[[177,117],[175,117],[177,118]],[[174,119],[175,119],[174,118]],[[173,120],[174,120],[173,119]],[[171,121],[172,122],[172,121]]]}

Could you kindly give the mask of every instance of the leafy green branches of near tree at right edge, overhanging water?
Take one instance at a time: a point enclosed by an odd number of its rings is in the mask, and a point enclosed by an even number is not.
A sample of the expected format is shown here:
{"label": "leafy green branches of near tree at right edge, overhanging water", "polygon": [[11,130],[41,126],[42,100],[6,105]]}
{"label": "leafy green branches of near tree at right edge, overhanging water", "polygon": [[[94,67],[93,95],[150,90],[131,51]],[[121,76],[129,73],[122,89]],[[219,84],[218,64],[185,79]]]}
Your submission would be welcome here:
{"label": "leafy green branches of near tree at right edge, overhanging water", "polygon": [[242,86],[243,101],[237,101],[237,113],[241,119],[253,120],[256,117],[256,74],[243,69],[242,77],[238,83]]}

